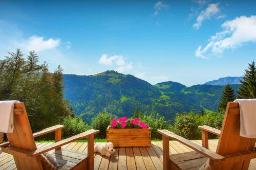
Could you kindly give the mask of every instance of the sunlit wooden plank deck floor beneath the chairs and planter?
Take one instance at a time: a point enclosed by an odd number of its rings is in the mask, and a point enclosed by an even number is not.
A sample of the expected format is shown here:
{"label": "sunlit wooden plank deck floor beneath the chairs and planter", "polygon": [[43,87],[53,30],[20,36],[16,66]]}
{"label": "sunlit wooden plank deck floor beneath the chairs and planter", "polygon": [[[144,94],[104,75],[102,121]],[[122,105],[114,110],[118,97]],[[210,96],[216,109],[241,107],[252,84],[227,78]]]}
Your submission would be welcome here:
{"label": "sunlit wooden plank deck floor beneath the chairs and planter", "polygon": [[[200,144],[202,140],[193,140]],[[177,141],[170,141],[170,153],[192,151]],[[51,143],[37,143],[37,147],[44,147]],[[209,140],[209,149],[216,150],[218,140]],[[73,142],[63,148],[79,152],[87,152],[87,143]],[[0,149],[0,169],[16,169],[12,155],[3,153]],[[116,148],[115,155],[110,158],[95,154],[94,169],[163,169],[162,142],[152,142],[151,147]],[[256,169],[256,159],[251,160],[249,169]]]}

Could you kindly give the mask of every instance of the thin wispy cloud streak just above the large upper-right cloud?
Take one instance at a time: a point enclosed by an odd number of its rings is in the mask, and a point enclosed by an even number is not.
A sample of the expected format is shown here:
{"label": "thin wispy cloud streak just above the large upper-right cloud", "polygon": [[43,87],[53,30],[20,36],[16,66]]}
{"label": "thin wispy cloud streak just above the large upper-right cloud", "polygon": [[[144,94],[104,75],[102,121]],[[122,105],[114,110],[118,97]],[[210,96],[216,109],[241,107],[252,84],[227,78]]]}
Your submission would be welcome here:
{"label": "thin wispy cloud streak just above the large upper-right cloud", "polygon": [[220,12],[218,5],[219,3],[209,4],[205,10],[201,11],[197,17],[197,22],[193,25],[193,27],[198,30],[205,19],[210,19],[212,16],[217,15]]}

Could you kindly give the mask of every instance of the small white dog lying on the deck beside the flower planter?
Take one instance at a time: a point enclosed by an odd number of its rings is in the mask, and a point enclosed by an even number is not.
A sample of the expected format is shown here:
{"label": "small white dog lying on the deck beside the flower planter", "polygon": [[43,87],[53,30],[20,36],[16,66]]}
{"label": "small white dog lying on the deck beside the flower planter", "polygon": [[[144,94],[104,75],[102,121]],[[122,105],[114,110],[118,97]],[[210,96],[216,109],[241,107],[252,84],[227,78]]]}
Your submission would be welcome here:
{"label": "small white dog lying on the deck beside the flower planter", "polygon": [[111,154],[114,154],[114,145],[112,142],[106,143],[96,143],[94,145],[94,152],[99,152],[102,156],[110,157]]}

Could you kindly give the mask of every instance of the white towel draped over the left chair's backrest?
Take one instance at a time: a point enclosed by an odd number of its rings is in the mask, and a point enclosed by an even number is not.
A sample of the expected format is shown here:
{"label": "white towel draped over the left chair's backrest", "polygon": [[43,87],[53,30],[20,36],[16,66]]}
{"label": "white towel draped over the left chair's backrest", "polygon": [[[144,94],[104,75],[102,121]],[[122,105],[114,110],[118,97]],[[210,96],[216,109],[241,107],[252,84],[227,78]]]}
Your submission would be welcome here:
{"label": "white towel draped over the left chair's backrest", "polygon": [[0,101],[0,132],[13,132],[13,107],[19,101]]}

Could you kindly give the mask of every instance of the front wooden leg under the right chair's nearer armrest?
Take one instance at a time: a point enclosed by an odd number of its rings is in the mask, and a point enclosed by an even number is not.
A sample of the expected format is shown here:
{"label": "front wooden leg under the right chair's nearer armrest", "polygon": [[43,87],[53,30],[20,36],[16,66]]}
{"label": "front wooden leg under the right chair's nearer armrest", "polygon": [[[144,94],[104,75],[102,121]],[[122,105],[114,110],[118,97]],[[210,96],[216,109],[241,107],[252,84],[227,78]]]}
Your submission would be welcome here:
{"label": "front wooden leg under the right chair's nearer armrest", "polygon": [[163,136],[163,169],[170,169],[169,138]]}

